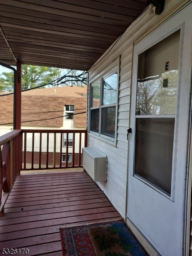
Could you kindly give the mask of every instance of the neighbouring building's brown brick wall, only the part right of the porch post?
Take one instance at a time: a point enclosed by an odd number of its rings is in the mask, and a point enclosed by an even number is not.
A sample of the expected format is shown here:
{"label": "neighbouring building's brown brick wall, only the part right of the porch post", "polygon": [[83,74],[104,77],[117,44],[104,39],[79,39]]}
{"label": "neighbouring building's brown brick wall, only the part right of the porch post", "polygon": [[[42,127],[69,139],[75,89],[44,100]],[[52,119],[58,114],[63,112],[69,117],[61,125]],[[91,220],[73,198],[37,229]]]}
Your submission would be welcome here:
{"label": "neighbouring building's brown brick wall, only the part right of the porch post", "polygon": [[[81,110],[86,105],[86,98],[84,97],[52,97],[52,96],[22,96],[22,115],[21,121],[25,125],[33,126],[54,126],[61,127],[63,125],[63,109],[64,105],[74,105],[74,127],[85,127],[85,113]],[[79,110],[80,109],[80,110]],[[46,113],[41,113],[45,112]],[[27,114],[25,114],[27,113]],[[31,114],[29,114],[31,113]],[[38,114],[37,114],[38,113]],[[58,118],[55,118],[57,117]],[[61,116],[61,117],[59,117]],[[28,120],[40,120],[34,122],[26,122]]]}

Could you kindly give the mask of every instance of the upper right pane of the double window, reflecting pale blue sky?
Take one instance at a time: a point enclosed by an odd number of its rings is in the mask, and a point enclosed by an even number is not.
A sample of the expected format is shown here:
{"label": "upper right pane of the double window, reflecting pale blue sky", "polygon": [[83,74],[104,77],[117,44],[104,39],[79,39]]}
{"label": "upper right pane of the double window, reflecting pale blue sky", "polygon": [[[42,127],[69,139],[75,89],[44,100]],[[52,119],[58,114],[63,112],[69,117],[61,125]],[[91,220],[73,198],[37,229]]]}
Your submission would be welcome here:
{"label": "upper right pane of the double window, reflecting pale blue sky", "polygon": [[116,103],[117,73],[103,81],[103,105]]}

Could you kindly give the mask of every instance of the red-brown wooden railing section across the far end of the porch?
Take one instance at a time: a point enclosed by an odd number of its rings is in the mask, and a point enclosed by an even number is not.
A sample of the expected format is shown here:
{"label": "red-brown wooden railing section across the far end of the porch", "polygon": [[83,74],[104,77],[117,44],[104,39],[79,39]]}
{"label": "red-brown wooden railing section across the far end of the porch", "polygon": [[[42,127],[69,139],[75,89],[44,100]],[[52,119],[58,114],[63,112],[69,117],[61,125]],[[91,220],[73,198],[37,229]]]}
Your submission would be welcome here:
{"label": "red-brown wooden railing section across the far end of the porch", "polygon": [[23,129],[22,170],[81,167],[87,130]]}

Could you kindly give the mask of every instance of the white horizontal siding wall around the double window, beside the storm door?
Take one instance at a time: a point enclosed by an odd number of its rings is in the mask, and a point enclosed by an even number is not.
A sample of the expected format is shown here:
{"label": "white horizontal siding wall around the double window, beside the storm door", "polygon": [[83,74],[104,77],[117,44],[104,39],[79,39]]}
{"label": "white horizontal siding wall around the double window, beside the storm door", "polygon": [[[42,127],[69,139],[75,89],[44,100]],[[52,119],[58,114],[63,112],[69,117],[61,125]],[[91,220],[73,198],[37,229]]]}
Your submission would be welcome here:
{"label": "white horizontal siding wall around the double window, beside the storm door", "polygon": [[[128,162],[128,140],[127,129],[130,118],[130,95],[132,55],[134,43],[139,41],[160,23],[176,12],[186,2],[184,0],[167,0],[161,15],[148,15],[148,9],[140,15],[126,32],[108,49],[96,64],[89,70],[89,83],[99,76],[102,71],[116,58],[120,58],[119,72],[119,102],[117,120],[116,146],[110,145],[108,141],[88,133],[87,146],[93,147],[108,157],[107,183],[99,182],[99,187],[105,192],[113,206],[119,211],[123,218],[126,216],[127,196],[127,162]],[[90,85],[89,85],[90,86]],[[88,88],[89,100],[90,88]],[[89,113],[87,115],[88,123]]]}

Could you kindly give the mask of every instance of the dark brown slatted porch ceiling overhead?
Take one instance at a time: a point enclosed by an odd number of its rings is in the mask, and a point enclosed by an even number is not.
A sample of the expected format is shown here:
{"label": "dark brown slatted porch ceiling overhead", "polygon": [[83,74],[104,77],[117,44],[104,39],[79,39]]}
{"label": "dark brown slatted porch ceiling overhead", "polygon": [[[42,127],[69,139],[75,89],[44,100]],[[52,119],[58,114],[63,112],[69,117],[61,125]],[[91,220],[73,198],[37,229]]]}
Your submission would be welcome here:
{"label": "dark brown slatted porch ceiling overhead", "polygon": [[145,0],[0,0],[0,62],[88,70]]}

